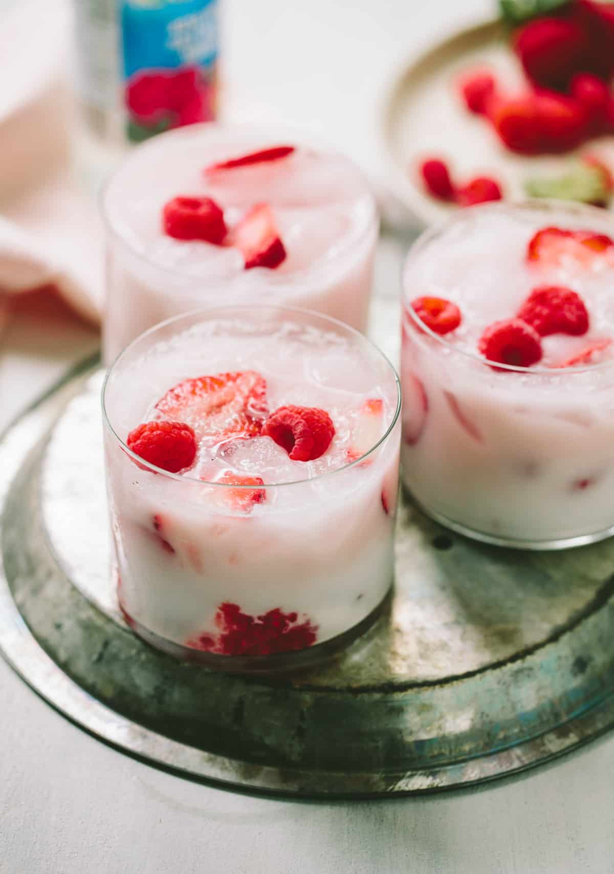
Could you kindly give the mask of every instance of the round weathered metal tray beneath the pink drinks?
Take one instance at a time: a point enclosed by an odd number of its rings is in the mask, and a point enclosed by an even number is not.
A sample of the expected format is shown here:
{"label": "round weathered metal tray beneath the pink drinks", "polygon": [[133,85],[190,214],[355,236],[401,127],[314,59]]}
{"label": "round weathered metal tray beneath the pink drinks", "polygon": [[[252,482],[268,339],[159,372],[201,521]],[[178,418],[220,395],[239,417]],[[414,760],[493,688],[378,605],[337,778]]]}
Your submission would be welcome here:
{"label": "round weathered metal tray beneath the pink drinks", "polygon": [[0,649],[74,722],[192,777],[345,797],[491,780],[614,725],[614,539],[506,551],[405,500],[394,597],[324,666],[228,676],[150,649],[110,584],[101,376],[81,365],[0,440]]}

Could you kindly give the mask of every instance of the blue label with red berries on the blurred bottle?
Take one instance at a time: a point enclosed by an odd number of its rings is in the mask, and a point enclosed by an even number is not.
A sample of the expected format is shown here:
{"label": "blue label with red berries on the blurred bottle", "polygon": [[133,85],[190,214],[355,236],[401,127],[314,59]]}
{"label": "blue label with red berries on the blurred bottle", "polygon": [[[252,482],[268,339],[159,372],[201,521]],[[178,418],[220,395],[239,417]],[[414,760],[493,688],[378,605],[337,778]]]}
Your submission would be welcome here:
{"label": "blue label with red berries on the blurred bottle", "polygon": [[120,3],[129,139],[213,119],[217,12],[216,0]]}

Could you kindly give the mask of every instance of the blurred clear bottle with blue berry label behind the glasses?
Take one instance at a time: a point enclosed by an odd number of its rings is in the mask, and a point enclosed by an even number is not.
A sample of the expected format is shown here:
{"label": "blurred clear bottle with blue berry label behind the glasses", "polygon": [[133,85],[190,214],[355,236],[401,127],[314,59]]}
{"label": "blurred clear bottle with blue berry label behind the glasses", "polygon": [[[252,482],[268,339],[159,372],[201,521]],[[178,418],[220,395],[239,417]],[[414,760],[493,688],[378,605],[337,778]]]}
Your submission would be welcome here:
{"label": "blurred clear bottle with blue berry label behind the glasses", "polygon": [[89,127],[141,142],[216,115],[217,0],[75,0]]}

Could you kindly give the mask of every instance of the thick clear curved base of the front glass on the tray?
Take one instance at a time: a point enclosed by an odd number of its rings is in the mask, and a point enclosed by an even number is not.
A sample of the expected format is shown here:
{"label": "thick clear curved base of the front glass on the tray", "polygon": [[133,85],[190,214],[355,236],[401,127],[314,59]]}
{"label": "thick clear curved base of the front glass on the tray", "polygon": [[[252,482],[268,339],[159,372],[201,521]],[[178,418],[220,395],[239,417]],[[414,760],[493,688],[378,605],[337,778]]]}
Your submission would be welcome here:
{"label": "thick clear curved base of the front glass on the tray", "polygon": [[[139,622],[130,617],[129,628],[142,641],[150,647],[159,649],[166,655],[182,659],[192,664],[201,664],[206,668],[225,671],[231,674],[271,674],[290,672],[298,669],[311,668],[336,655],[339,650],[345,649],[350,643],[375,624],[380,616],[387,614],[392,603],[392,585],[388,588],[380,603],[370,614],[359,621],[357,625],[348,628],[342,634],[331,637],[322,643],[306,649],[294,649],[290,652],[275,653],[274,655],[216,655],[204,652],[200,649],[185,647],[179,643],[169,641],[164,637],[154,634],[149,628],[144,628]],[[127,623],[128,624],[128,623]]]}

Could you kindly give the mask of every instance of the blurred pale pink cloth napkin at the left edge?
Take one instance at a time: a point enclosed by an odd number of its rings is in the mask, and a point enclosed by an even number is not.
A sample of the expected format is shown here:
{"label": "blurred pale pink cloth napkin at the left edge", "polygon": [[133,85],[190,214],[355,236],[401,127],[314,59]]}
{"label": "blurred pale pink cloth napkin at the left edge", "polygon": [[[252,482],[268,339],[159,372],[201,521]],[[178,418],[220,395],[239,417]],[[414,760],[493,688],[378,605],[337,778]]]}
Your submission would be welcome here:
{"label": "blurred pale pink cloth napkin at the left edge", "polygon": [[70,33],[65,0],[0,5],[0,329],[15,295],[41,288],[101,317],[100,219],[71,162]]}

